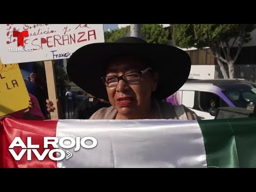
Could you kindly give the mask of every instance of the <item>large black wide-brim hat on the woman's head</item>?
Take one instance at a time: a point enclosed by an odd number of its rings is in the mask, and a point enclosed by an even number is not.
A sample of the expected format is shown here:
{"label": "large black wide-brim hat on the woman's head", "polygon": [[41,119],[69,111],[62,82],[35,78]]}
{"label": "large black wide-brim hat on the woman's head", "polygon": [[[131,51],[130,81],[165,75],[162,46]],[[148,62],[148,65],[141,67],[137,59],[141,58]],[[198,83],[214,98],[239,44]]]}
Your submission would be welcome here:
{"label": "large black wide-brim hat on the woman's head", "polygon": [[134,55],[150,61],[159,73],[156,99],[165,99],[187,81],[191,61],[189,55],[174,46],[147,43],[137,37],[123,37],[114,43],[93,43],[75,51],[68,60],[69,79],[97,98],[108,100],[106,86],[101,77],[106,65],[122,55]]}

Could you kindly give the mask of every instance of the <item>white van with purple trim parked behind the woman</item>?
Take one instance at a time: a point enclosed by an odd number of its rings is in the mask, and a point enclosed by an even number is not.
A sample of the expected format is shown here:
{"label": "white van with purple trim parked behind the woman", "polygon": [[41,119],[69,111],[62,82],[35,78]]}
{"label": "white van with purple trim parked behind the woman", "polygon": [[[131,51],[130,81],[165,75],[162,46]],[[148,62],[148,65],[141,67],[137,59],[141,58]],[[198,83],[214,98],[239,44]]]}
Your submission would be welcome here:
{"label": "white van with purple trim parked behind the woman", "polygon": [[212,79],[187,81],[179,90],[183,105],[195,111],[202,119],[210,115],[210,101],[216,107],[242,107],[256,104],[256,84],[241,79]]}

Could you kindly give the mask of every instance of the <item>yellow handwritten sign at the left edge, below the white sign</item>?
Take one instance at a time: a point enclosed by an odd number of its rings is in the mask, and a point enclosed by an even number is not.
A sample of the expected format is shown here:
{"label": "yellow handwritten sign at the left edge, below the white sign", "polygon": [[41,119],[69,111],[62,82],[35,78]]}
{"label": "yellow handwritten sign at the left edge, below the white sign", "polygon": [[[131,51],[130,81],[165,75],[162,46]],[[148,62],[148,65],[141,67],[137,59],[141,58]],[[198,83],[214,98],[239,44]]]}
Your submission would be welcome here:
{"label": "yellow handwritten sign at the left edge, below the white sign", "polygon": [[0,116],[27,108],[29,94],[17,63],[0,62]]}

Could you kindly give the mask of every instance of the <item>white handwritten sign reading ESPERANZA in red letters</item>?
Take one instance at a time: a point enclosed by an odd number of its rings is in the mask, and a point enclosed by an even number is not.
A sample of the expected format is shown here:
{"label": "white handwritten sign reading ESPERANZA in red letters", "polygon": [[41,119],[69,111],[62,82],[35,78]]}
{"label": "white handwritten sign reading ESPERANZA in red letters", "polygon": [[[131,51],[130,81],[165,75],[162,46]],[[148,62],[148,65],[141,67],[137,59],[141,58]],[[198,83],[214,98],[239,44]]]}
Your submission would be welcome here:
{"label": "white handwritten sign reading ESPERANZA in red letters", "polygon": [[[13,31],[28,31],[20,40]],[[0,56],[4,64],[67,59],[80,47],[104,42],[103,24],[1,24]]]}

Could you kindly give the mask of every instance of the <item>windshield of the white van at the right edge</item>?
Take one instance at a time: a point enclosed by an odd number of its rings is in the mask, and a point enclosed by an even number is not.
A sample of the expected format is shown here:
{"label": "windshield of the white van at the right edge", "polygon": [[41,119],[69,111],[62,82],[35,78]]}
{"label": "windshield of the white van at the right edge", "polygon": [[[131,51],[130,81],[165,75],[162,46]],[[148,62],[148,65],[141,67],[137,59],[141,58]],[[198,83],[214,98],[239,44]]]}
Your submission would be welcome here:
{"label": "windshield of the white van at the right edge", "polygon": [[222,91],[236,107],[246,108],[256,104],[256,85],[252,83],[234,83]]}

